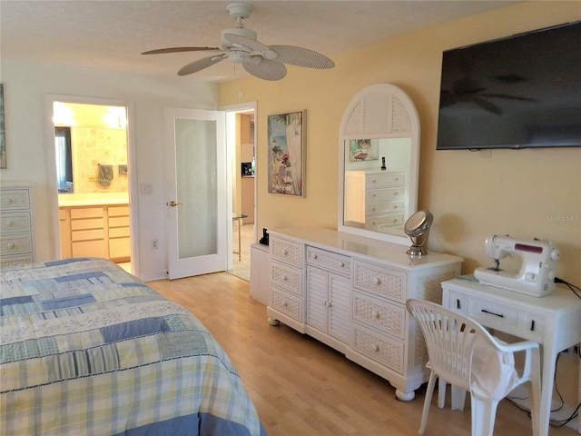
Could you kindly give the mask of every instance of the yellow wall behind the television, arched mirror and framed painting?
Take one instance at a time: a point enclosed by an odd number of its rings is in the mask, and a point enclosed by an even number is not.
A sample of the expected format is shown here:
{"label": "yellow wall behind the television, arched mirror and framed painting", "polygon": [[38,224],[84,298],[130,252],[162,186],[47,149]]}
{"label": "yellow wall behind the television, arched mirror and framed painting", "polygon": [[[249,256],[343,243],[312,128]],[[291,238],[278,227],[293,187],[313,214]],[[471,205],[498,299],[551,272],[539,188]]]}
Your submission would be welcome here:
{"label": "yellow wall behind the television, arched mirror and framed painting", "polygon": [[[490,158],[436,151],[443,50],[579,19],[579,1],[521,3],[333,55],[332,70],[290,66],[279,82],[222,84],[221,105],[258,104],[259,234],[262,227],[337,228],[341,116],[362,88],[392,83],[419,110],[419,208],[435,216],[429,247],[464,256],[463,272],[471,273],[491,263],[483,251],[489,233],[547,238],[561,250],[557,276],[581,285],[581,148],[493,150]],[[266,118],[300,109],[307,110],[306,196],[268,193]]]}

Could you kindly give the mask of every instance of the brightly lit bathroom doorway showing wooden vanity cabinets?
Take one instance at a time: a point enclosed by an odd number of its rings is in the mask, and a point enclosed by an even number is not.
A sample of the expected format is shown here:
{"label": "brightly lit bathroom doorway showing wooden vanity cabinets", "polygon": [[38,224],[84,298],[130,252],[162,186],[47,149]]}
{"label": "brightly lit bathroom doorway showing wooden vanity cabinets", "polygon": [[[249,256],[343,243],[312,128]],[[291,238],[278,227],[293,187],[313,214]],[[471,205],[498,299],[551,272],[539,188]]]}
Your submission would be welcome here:
{"label": "brightly lit bathroom doorway showing wooden vanity cabinets", "polygon": [[53,100],[61,257],[132,272],[127,107]]}

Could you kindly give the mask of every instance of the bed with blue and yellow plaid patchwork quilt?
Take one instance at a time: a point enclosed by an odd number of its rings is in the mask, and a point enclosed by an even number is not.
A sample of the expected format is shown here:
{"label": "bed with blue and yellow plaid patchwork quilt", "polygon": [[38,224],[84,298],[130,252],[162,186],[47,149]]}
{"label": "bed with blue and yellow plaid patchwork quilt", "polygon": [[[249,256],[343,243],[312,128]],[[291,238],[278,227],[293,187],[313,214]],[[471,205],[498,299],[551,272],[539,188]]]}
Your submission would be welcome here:
{"label": "bed with blue and yellow plaid patchwork quilt", "polygon": [[0,308],[0,434],[266,434],[202,322],[114,263],[3,268]]}

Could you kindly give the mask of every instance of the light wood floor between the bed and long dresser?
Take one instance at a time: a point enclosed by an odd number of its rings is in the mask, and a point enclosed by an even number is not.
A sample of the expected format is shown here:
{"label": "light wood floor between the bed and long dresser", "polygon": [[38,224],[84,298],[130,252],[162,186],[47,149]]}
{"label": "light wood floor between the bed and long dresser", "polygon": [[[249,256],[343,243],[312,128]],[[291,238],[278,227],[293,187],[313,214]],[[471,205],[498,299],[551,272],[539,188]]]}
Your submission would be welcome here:
{"label": "light wood floor between the bed and long dresser", "polygon": [[[308,336],[267,322],[249,282],[219,272],[148,282],[193,312],[234,363],[270,436],[409,436],[418,434],[423,390],[414,401],[395,399],[388,381]],[[448,392],[450,390],[448,389]],[[470,409],[439,410],[428,417],[429,436],[468,436]],[[507,401],[497,411],[495,435],[531,434],[527,413]],[[574,435],[568,427],[551,435]]]}

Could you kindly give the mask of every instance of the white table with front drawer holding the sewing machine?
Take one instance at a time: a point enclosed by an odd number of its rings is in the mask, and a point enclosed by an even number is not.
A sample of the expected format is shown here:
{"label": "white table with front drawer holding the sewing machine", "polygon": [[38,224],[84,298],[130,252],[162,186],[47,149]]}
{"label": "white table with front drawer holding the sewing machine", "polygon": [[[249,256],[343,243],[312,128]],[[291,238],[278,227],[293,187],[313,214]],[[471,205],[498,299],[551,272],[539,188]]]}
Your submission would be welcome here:
{"label": "white table with front drawer holding the sewing machine", "polygon": [[562,285],[551,295],[532,297],[480,284],[473,276],[442,282],[442,289],[442,305],[451,311],[541,344],[539,431],[547,436],[556,355],[581,342],[581,299]]}

